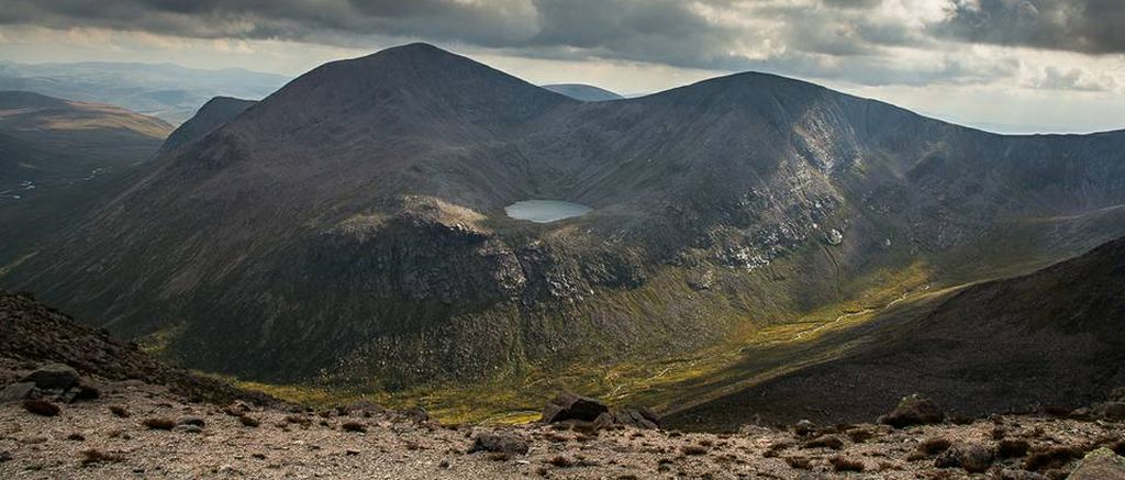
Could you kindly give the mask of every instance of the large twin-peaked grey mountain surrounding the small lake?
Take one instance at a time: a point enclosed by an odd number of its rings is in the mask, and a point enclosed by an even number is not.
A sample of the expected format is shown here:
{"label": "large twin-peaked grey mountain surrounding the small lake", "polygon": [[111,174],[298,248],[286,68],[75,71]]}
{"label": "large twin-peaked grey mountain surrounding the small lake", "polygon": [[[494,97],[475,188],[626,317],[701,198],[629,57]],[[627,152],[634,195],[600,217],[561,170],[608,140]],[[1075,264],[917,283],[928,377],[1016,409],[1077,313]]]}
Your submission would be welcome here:
{"label": "large twin-peaked grey mountain surrounding the small lake", "polygon": [[[1125,235],[1122,152],[760,73],[582,102],[412,44],[166,152],[0,284],[256,380],[608,393],[606,369]],[[593,211],[504,214],[529,199]]]}

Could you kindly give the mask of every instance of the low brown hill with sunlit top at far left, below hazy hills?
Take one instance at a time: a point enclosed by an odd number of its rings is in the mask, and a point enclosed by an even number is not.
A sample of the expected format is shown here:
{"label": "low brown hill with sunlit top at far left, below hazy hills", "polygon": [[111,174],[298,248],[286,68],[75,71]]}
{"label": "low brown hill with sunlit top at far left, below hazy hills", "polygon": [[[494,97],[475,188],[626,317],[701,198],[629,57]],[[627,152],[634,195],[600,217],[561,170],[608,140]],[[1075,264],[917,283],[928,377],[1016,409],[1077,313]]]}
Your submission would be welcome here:
{"label": "low brown hill with sunlit top at far left, below hazy hills", "polygon": [[115,106],[0,91],[0,191],[34,193],[22,190],[126,169],[148,160],[171,129]]}

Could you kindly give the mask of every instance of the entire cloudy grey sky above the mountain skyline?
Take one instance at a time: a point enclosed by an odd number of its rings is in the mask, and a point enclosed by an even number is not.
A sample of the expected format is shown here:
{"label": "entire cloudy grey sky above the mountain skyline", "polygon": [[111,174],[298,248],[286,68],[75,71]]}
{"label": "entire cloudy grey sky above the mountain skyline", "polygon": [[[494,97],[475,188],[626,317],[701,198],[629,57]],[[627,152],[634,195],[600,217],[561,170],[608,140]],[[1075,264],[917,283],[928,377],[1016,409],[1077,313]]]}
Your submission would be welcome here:
{"label": "entire cloudy grey sky above the mountain skyline", "polygon": [[536,83],[766,71],[998,132],[1125,128],[1122,0],[3,0],[0,60],[297,75],[412,40]]}

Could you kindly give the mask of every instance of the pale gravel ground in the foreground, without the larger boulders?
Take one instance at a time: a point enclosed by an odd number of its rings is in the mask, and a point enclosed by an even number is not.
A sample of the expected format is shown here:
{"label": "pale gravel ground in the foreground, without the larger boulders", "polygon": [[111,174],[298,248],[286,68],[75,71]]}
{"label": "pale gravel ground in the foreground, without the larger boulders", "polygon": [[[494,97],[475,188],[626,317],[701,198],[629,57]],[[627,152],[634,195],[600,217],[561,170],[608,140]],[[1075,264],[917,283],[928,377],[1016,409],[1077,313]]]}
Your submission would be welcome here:
{"label": "pale gravel ground in the foreground, without the larger boulders", "polygon": [[[110,406],[125,407],[129,416],[115,415]],[[1117,423],[1034,416],[902,431],[838,426],[798,436],[765,427],[746,427],[730,435],[632,428],[587,435],[539,425],[450,427],[388,413],[322,416],[252,408],[245,415],[260,425],[245,426],[223,408],[188,404],[162,387],[137,381],[106,382],[101,398],[63,405],[54,417],[3,405],[0,478],[966,478],[971,476],[962,468],[937,469],[940,454],[919,453],[919,443],[945,438],[953,445],[992,451],[1004,438],[1026,441],[1033,451],[1076,446],[1086,452],[1090,445],[1113,444],[1122,436]],[[198,432],[144,425],[151,418],[186,416],[198,417],[205,425]],[[366,432],[345,432],[348,423]],[[477,436],[489,433],[523,440],[529,451],[468,453]],[[827,446],[806,445],[818,436]],[[840,445],[832,445],[831,438]],[[108,459],[83,463],[88,455],[83,452],[90,451]],[[2,460],[6,456],[9,460]],[[837,471],[831,463],[837,456],[862,464],[863,472]],[[997,460],[976,477],[1019,478],[1015,469],[1026,462],[1025,455]],[[1065,461],[1054,470],[1040,470],[1062,477],[1073,467],[1074,462]]]}

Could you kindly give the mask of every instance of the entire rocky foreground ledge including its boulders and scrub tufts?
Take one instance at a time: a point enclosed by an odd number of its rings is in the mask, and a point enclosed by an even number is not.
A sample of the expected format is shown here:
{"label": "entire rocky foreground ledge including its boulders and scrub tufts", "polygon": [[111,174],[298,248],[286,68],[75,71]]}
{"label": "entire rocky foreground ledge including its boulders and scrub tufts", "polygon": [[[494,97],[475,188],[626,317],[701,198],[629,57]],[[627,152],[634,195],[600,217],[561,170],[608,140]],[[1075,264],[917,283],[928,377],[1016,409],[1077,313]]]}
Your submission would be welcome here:
{"label": "entire rocky foreground ledge including its boulders and scrub tufts", "polygon": [[1125,428],[1106,416],[1125,391],[1065,417],[954,422],[908,397],[881,424],[717,435],[662,431],[650,413],[573,395],[547,406],[552,423],[475,427],[367,404],[219,406],[65,372],[12,372],[0,478],[1125,479]]}

